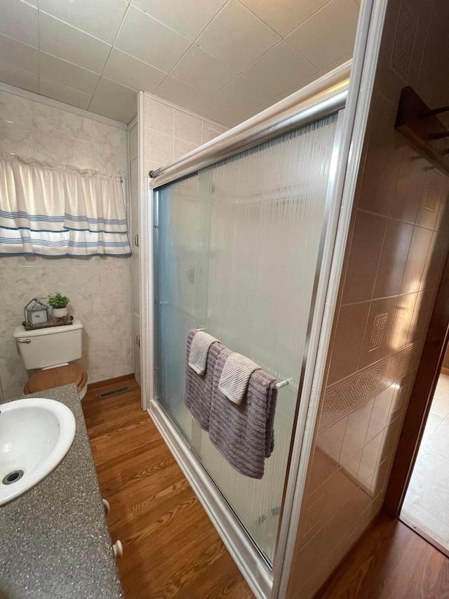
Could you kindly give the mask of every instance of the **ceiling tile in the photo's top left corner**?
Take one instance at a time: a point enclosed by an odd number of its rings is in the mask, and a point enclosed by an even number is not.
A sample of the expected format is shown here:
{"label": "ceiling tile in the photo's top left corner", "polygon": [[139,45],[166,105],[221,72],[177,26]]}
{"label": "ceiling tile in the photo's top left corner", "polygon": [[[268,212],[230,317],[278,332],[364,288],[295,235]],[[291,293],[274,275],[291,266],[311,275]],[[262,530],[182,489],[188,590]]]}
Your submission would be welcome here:
{"label": "ceiling tile in the photo's top left corner", "polygon": [[20,0],[1,0],[0,33],[37,48],[37,13],[34,6]]}

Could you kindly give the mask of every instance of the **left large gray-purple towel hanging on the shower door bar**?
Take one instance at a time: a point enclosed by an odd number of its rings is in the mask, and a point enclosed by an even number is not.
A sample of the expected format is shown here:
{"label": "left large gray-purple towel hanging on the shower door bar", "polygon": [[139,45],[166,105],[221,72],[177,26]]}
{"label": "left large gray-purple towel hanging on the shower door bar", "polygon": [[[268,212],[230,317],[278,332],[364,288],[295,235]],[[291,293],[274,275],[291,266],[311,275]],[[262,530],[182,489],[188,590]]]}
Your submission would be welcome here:
{"label": "left large gray-purple towel hanging on the shower door bar", "polygon": [[196,329],[187,335],[187,364],[185,369],[185,404],[192,416],[203,430],[209,430],[210,400],[212,398],[213,371],[218,355],[225,348],[221,343],[210,345],[206,372],[203,376],[196,374],[189,367],[190,347]]}

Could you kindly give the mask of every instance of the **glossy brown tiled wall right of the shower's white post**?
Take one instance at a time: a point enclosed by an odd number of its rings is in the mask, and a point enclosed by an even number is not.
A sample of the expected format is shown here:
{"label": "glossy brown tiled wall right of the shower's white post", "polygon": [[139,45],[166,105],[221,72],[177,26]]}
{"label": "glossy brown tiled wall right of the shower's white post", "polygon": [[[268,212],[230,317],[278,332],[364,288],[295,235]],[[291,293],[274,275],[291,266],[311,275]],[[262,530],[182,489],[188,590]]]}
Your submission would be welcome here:
{"label": "glossy brown tiled wall right of the shower's white post", "polygon": [[448,19],[444,0],[388,4],[290,599],[314,595],[382,506],[449,243],[449,178],[394,122],[403,86],[449,103]]}

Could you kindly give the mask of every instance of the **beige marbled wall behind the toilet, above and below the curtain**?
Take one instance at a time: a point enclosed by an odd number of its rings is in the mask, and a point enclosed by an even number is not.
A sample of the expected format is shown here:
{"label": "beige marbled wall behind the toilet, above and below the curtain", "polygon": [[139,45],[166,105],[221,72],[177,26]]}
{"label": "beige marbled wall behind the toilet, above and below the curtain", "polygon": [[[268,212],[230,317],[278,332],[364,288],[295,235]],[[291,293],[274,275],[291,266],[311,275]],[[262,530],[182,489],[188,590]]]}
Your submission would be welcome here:
{"label": "beige marbled wall behind the toilet, above and below the curtain", "polygon": [[[126,129],[0,91],[0,152],[128,176]],[[90,382],[134,371],[130,258],[0,257],[0,379],[4,398],[22,393],[27,371],[13,341],[23,307],[61,291],[84,325]],[[30,373],[31,374],[31,373]]]}

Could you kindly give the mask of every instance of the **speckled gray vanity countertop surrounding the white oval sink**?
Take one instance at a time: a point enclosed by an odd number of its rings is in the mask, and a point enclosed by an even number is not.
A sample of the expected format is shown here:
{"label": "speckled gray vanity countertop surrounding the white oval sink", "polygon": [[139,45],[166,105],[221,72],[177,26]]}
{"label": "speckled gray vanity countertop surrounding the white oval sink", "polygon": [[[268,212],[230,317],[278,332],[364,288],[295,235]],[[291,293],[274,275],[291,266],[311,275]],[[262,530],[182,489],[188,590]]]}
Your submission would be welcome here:
{"label": "speckled gray vanity countertop surrounding the white oval sink", "polygon": [[66,404],[76,433],[50,475],[0,506],[0,598],[123,598],[76,386],[25,397]]}

